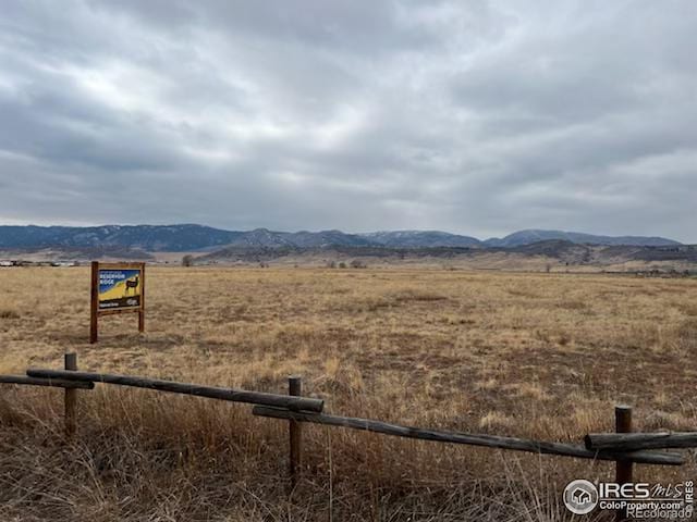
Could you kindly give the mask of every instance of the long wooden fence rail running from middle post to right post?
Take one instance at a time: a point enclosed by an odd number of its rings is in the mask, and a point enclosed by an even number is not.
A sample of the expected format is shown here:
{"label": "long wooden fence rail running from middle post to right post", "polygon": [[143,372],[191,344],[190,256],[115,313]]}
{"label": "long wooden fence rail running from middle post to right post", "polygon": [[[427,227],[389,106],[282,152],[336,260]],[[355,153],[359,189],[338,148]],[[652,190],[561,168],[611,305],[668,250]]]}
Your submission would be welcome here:
{"label": "long wooden fence rail running from middle post to right post", "polygon": [[591,451],[583,446],[562,443],[547,443],[529,440],[525,438],[501,437],[498,435],[476,435],[456,432],[441,432],[420,427],[401,426],[370,419],[352,417],[338,417],[328,414],[309,413],[306,411],[290,411],[282,408],[268,408],[256,406],[252,411],[255,415],[283,419],[288,421],[311,422],[329,426],[348,427],[366,432],[382,433],[398,437],[418,438],[421,440],[435,440],[440,443],[466,444],[470,446],[485,446],[488,448],[512,449],[529,451],[534,453],[559,455],[591,460],[629,461],[643,464],[681,465],[685,462],[682,455],[650,451]]}

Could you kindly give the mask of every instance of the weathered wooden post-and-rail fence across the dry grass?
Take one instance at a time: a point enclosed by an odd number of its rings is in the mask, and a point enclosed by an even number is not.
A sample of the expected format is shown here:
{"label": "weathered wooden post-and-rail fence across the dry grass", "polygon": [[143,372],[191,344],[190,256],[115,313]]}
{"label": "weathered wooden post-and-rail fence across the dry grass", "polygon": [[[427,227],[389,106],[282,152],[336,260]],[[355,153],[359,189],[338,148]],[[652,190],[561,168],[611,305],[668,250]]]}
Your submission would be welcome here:
{"label": "weathered wooden post-and-rail fence across the dry grass", "polygon": [[[29,369],[25,375],[0,375],[0,383],[52,386],[64,388],[65,434],[73,437],[77,426],[76,390],[93,389],[95,383],[132,386],[175,394],[207,397],[218,400],[255,405],[254,415],[280,419],[289,422],[289,474],[294,487],[302,470],[302,424],[315,423],[380,433],[396,437],[416,438],[437,443],[464,444],[488,448],[547,453],[589,460],[615,462],[615,481],[632,482],[634,463],[681,465],[685,462],[678,452],[657,451],[668,448],[697,447],[697,432],[689,433],[631,433],[632,408],[615,407],[615,433],[591,433],[584,437],[583,445],[533,440],[498,435],[470,434],[390,424],[371,419],[359,419],[323,413],[323,400],[302,396],[302,381],[289,377],[289,394],[269,394],[243,389],[176,383],[131,375],[81,372],[75,353],[65,353],[64,370]],[[617,512],[617,520],[624,513]]]}

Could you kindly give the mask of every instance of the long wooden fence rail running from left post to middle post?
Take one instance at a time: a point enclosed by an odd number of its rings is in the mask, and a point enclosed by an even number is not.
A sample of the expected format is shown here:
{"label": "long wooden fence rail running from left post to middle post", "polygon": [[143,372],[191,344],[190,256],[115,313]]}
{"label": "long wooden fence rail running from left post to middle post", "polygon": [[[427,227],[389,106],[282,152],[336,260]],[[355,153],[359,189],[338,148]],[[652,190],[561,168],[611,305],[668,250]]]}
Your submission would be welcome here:
{"label": "long wooden fence rail running from left post to middle post", "polygon": [[29,377],[117,384],[121,386],[133,386],[136,388],[156,389],[158,391],[171,391],[174,394],[194,395],[196,397],[230,400],[233,402],[247,402],[250,405],[288,408],[291,410],[321,412],[325,407],[323,400],[308,397],[292,397],[262,391],[219,388],[213,386],[201,386],[198,384],[162,381],[159,378],[134,377],[131,375],[40,369],[29,369],[26,371],[26,374]]}

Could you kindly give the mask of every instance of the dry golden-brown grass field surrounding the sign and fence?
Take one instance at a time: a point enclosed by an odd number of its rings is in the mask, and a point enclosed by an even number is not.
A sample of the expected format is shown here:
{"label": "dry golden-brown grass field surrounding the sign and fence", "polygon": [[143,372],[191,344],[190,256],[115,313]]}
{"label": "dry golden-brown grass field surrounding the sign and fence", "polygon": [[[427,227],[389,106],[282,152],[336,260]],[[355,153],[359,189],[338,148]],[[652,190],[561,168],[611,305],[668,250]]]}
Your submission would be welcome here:
{"label": "dry golden-brown grass field surrounding the sign and fence", "polygon": [[[146,333],[105,318],[89,345],[87,269],[0,270],[0,372],[60,368],[286,390],[326,411],[579,442],[697,427],[697,281],[386,269],[150,269]],[[62,437],[62,391],[0,388],[0,520],[574,520],[594,463],[306,425],[286,493],[286,423],[250,407],[98,386]],[[695,477],[637,465],[641,480]],[[585,520],[594,520],[591,517]],[[598,520],[604,520],[599,518]]]}

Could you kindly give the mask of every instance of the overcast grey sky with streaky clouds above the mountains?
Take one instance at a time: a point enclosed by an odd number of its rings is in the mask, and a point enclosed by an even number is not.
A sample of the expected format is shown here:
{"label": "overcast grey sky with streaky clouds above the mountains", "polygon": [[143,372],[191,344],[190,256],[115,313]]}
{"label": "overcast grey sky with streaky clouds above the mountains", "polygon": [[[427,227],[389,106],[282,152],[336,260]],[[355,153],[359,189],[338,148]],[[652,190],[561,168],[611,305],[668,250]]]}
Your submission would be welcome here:
{"label": "overcast grey sky with streaky clouds above the mountains", "polygon": [[692,0],[3,0],[0,224],[697,243]]}

